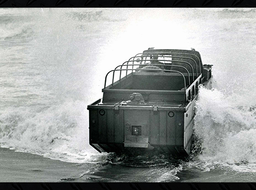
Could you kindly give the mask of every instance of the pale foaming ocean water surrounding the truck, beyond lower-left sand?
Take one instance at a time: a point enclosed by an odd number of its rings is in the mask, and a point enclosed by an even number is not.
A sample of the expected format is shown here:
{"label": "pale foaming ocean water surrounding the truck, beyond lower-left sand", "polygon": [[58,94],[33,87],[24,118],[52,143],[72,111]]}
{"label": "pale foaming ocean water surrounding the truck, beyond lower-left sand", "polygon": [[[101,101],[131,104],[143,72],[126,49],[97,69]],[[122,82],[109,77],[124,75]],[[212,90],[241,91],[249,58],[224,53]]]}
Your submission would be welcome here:
{"label": "pale foaming ocean water surrounding the truck, beyond lower-left sand", "polygon": [[[106,165],[112,175],[94,181],[253,181],[255,25],[249,8],[0,9],[0,145],[85,171],[90,163],[89,174],[92,163]],[[148,47],[193,47],[214,65],[213,88],[199,92],[200,153],[190,161],[89,146],[87,105],[102,98],[105,74]]]}

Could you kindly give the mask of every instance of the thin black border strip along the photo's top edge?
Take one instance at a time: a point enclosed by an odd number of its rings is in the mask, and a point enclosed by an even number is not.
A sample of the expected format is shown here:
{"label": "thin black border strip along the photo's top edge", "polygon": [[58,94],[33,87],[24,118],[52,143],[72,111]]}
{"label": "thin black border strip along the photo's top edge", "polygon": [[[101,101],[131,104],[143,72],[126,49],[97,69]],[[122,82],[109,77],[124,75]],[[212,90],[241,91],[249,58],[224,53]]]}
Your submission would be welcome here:
{"label": "thin black border strip along the photo's top edge", "polygon": [[245,8],[256,7],[255,0],[0,0],[0,8],[44,8],[44,7],[66,7],[66,8]]}

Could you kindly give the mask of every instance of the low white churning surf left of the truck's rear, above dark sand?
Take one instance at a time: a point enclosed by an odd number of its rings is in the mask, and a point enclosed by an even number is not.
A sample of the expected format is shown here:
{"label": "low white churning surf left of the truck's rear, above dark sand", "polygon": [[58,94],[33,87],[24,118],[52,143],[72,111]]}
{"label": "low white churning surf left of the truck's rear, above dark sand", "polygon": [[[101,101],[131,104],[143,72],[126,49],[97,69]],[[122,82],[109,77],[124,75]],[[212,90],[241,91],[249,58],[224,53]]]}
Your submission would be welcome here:
{"label": "low white churning surf left of the truck's rear, above dark sand", "polygon": [[8,108],[0,115],[0,142],[4,147],[50,158],[88,161],[87,153],[95,152],[87,149],[84,107],[83,102],[69,101],[49,108]]}

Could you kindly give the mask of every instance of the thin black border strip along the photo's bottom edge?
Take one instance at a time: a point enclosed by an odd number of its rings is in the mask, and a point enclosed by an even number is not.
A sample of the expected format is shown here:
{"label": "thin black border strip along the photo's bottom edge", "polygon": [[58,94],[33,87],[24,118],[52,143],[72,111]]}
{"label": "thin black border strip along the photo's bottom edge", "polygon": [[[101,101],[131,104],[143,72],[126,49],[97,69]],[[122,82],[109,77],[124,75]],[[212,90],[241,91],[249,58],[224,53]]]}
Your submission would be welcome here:
{"label": "thin black border strip along the photo's bottom edge", "polygon": [[0,188],[16,190],[255,190],[256,183],[0,183]]}

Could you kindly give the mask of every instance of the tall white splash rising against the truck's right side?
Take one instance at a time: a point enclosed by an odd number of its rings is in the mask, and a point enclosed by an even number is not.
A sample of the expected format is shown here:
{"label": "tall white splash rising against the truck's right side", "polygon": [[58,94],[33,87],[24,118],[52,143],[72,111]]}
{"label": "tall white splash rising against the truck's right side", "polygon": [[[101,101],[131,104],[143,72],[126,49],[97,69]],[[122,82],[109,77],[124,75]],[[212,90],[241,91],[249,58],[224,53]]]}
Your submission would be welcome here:
{"label": "tall white splash rising against the truck's right side", "polygon": [[218,89],[200,88],[196,103],[195,134],[202,140],[201,159],[228,163],[255,162],[255,110],[243,106],[243,97]]}

